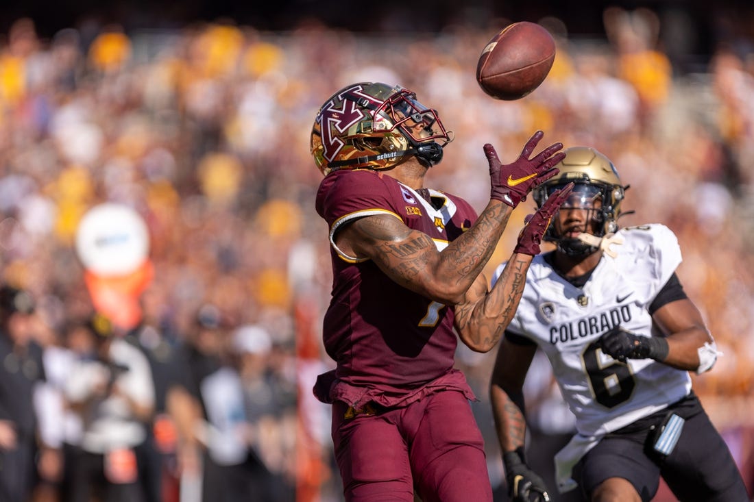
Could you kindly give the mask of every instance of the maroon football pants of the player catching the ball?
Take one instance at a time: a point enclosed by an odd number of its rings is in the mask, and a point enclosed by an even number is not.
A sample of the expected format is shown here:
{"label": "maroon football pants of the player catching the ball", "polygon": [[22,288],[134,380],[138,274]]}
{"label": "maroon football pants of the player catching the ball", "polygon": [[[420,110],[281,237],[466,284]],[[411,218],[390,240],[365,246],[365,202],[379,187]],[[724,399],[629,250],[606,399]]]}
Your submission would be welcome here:
{"label": "maroon football pants of the player catching the ball", "polygon": [[345,418],[333,405],[333,444],[348,502],[492,501],[482,434],[466,397],[441,391],[405,408]]}

